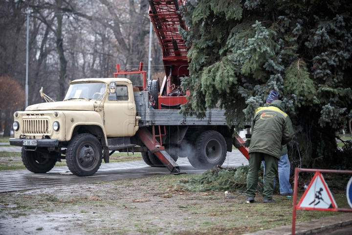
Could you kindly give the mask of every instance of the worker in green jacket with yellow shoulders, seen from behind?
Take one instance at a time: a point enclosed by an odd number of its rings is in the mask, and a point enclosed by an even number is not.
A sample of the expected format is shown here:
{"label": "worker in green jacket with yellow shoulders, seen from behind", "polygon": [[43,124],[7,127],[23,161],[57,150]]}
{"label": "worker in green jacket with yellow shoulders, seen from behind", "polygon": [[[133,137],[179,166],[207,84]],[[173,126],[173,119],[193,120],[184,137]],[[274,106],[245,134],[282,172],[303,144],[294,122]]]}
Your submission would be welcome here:
{"label": "worker in green jacket with yellow shoulders, seen from behind", "polygon": [[[258,170],[265,162],[264,203],[275,202],[272,198],[274,178],[278,172],[282,145],[291,141],[292,123],[285,113],[285,103],[277,100],[277,92],[269,94],[274,97],[267,107],[259,107],[254,114],[252,137],[249,145],[249,169],[247,175],[246,202],[254,202],[258,185]],[[269,98],[268,97],[268,98]]]}

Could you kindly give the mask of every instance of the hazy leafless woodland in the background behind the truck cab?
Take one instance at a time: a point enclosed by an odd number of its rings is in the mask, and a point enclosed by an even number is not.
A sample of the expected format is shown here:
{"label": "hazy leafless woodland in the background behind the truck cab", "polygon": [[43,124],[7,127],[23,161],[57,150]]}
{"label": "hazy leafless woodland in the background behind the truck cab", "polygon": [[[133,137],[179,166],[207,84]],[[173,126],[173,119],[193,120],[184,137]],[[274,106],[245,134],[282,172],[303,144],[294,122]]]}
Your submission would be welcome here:
{"label": "hazy leafless woodland in the background behind the truck cab", "polygon": [[[22,87],[28,4],[29,104],[43,102],[42,86],[46,94],[60,100],[68,81],[111,77],[117,63],[132,69],[148,60],[147,0],[0,1],[0,75],[13,77]],[[153,51],[158,53],[153,63],[161,64],[157,40]],[[141,77],[128,78],[134,84],[141,82]]]}

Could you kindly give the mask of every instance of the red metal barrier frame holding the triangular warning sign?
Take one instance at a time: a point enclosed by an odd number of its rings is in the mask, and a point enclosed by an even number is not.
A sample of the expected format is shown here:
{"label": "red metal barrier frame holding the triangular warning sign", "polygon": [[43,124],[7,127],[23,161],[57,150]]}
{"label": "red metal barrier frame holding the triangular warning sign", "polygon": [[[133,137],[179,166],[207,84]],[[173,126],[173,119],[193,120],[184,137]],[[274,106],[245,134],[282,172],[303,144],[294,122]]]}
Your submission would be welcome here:
{"label": "red metal barrier frame holding the triangular warning sign", "polygon": [[[309,185],[311,186],[311,184],[313,184],[314,182],[314,179],[316,177],[321,177],[320,173],[335,173],[335,174],[352,174],[352,170],[323,170],[323,169],[303,169],[303,168],[295,168],[295,174],[294,174],[294,191],[293,191],[293,213],[292,213],[292,235],[295,234],[295,230],[296,230],[296,210],[317,210],[317,211],[341,211],[341,212],[352,212],[352,209],[349,209],[349,208],[337,208],[337,206],[331,206],[327,209],[321,209],[321,208],[304,208],[304,207],[301,207],[301,203],[302,203],[302,199],[305,198],[305,196],[307,195],[308,193],[308,190],[309,188],[305,191],[305,193],[303,194],[299,204],[297,205],[297,188],[298,188],[298,172],[315,172],[315,175],[313,177],[313,179],[311,180],[311,182],[309,183]],[[325,180],[324,178],[322,178],[322,181],[324,181],[324,184],[325,183]],[[327,191],[330,192],[330,189],[329,188],[326,188],[328,189]],[[318,202],[315,203],[315,200],[316,198],[317,199],[321,199],[319,198],[319,195],[322,195],[321,194],[321,191],[323,190],[323,188],[320,188],[320,190],[316,191],[316,194],[314,196],[314,200],[310,203],[310,204],[313,204],[314,206],[317,205],[318,203],[320,203],[320,200]],[[330,192],[331,194],[331,192]],[[318,195],[318,197],[317,197]],[[332,198],[332,195],[330,195],[330,198],[329,198],[331,201],[333,201],[333,203],[335,202],[334,199]],[[331,203],[331,204],[333,204]],[[309,204],[309,205],[310,205]]]}

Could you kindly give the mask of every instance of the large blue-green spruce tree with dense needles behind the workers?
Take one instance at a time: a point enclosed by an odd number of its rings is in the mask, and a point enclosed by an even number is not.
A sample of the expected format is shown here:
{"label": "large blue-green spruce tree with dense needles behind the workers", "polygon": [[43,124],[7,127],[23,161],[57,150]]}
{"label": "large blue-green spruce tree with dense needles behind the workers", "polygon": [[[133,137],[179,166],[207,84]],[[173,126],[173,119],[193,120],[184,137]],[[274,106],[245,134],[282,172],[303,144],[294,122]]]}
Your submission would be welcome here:
{"label": "large blue-green spruce tree with dense needles behind the workers", "polygon": [[292,166],[352,168],[351,144],[335,141],[352,117],[352,1],[199,0],[180,10],[190,48],[181,112],[219,105],[240,130],[276,90],[295,129]]}

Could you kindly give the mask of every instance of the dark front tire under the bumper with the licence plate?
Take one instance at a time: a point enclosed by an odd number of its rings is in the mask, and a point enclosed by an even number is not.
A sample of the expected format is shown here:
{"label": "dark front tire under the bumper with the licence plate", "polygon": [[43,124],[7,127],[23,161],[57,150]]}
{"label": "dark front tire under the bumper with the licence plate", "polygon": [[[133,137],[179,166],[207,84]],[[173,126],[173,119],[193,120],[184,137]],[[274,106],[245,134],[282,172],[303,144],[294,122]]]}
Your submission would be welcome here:
{"label": "dark front tire under the bumper with the licence plate", "polygon": [[43,158],[43,154],[35,151],[25,151],[22,147],[22,162],[33,173],[46,173],[56,164],[56,158]]}

